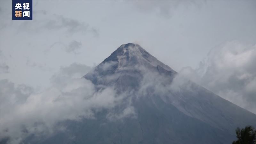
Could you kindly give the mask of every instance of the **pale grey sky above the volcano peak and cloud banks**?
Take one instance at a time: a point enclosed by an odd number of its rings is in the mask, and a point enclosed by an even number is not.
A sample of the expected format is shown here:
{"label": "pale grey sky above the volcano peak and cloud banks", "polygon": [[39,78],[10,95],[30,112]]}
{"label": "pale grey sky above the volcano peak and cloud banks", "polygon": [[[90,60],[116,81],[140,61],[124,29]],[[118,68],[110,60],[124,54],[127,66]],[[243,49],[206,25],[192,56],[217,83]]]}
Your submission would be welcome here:
{"label": "pale grey sky above the volcano peak and cloud banks", "polygon": [[255,5],[254,1],[34,1],[32,21],[12,21],[11,1],[1,1],[1,68],[8,66],[1,78],[46,87],[60,67],[95,66],[126,43],[140,44],[178,72],[187,66],[197,68],[220,44],[234,40],[255,44]]}

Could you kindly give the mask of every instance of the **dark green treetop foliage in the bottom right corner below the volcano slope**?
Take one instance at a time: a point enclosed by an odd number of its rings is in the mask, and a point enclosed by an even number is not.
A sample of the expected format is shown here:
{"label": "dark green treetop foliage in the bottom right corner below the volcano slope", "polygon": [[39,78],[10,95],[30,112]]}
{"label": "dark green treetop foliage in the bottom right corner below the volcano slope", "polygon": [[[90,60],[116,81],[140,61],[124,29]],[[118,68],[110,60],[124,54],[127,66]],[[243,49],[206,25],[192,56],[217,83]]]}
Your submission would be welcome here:
{"label": "dark green treetop foliage in the bottom right corner below the volcano slope", "polygon": [[246,126],[245,128],[236,129],[237,140],[232,144],[256,144],[256,130],[252,126]]}

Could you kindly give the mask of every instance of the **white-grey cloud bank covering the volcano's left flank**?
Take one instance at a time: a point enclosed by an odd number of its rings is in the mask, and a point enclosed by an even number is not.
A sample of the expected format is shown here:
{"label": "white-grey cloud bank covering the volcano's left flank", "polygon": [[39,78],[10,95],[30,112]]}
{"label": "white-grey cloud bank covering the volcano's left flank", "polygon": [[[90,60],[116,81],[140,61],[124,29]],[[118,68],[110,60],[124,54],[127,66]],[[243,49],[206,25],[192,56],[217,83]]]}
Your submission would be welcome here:
{"label": "white-grey cloud bank covering the volcano's left flank", "polygon": [[[9,138],[12,144],[20,143],[30,134],[51,134],[65,120],[93,119],[94,112],[111,109],[124,98],[114,88],[96,86],[81,78],[90,67],[71,64],[52,76],[52,86],[36,92],[26,85],[15,85],[1,80],[1,139]],[[127,106],[119,115],[109,113],[109,120],[130,116],[133,107]]]}

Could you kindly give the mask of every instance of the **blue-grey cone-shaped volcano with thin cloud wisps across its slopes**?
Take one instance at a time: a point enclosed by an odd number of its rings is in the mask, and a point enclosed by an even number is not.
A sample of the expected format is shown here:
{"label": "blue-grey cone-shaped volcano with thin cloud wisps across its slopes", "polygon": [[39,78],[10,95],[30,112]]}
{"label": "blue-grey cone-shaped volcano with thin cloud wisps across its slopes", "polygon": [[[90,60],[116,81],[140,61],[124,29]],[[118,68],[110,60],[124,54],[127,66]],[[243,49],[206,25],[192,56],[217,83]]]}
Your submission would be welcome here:
{"label": "blue-grey cone-shaped volcano with thin cloud wisps across its slopes", "polygon": [[[256,115],[220,98],[146,52],[123,44],[84,78],[122,98],[95,119],[67,121],[67,130],[37,143],[228,144]],[[30,140],[33,142],[33,140]]]}

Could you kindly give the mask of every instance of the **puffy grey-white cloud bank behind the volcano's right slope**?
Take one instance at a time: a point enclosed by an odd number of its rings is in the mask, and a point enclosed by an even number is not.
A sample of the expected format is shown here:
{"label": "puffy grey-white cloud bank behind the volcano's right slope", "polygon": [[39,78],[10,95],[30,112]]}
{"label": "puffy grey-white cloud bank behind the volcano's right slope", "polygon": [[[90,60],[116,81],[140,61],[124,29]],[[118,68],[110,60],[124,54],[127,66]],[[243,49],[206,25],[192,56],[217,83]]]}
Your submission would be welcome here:
{"label": "puffy grey-white cloud bank behind the volcano's right slope", "polygon": [[231,41],[213,48],[197,69],[185,67],[180,75],[256,114],[255,62],[256,44]]}

